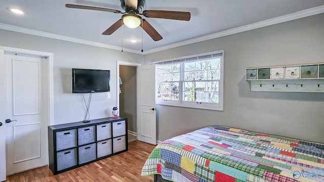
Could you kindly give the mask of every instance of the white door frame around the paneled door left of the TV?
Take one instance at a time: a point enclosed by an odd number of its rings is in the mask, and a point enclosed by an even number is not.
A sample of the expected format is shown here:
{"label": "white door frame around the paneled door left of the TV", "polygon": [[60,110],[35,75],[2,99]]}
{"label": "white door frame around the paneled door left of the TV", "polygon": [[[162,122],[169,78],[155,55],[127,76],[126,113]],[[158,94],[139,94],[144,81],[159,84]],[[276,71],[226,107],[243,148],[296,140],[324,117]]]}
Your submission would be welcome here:
{"label": "white door frame around the paneled door left of the TV", "polygon": [[[53,53],[46,53],[46,52],[39,52],[39,51],[32,51],[32,50],[25,50],[25,49],[18,49],[18,48],[11,48],[11,47],[3,47],[0,46],[0,61],[5,61],[5,53],[18,53],[22,55],[33,55],[39,57],[46,57],[48,62],[47,72],[48,72],[48,90],[49,90],[49,99],[48,99],[48,125],[54,124],[54,76],[53,76]],[[4,76],[4,74],[2,75]],[[6,89],[4,89],[5,95],[7,93]],[[6,108],[6,107],[5,107]],[[6,114],[2,115],[0,113],[0,120],[3,122],[5,121]],[[3,122],[4,123],[4,122]],[[46,131],[47,132],[47,131]],[[2,146],[1,146],[2,147]]]}

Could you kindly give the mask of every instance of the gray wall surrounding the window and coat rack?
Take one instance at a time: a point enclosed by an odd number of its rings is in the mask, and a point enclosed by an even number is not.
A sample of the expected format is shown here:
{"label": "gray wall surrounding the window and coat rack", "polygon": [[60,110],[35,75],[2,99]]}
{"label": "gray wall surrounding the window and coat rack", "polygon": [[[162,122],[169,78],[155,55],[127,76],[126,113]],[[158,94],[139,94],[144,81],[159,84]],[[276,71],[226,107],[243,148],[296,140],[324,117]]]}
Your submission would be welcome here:
{"label": "gray wall surrounding the window and coat rack", "polygon": [[324,63],[324,14],[145,55],[145,62],[224,50],[224,111],[157,106],[158,140],[207,125],[324,142],[323,93],[250,92],[245,69]]}

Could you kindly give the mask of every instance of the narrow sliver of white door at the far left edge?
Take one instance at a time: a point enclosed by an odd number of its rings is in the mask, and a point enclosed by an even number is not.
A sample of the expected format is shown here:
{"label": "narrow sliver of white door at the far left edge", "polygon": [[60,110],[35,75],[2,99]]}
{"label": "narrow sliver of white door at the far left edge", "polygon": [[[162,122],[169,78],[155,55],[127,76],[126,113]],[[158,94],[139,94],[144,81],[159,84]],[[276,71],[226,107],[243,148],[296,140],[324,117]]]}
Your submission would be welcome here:
{"label": "narrow sliver of white door at the far left edge", "polygon": [[[0,50],[0,118],[6,118],[6,66],[3,63],[5,59],[4,50]],[[6,180],[6,126],[5,121],[0,120],[0,181]]]}

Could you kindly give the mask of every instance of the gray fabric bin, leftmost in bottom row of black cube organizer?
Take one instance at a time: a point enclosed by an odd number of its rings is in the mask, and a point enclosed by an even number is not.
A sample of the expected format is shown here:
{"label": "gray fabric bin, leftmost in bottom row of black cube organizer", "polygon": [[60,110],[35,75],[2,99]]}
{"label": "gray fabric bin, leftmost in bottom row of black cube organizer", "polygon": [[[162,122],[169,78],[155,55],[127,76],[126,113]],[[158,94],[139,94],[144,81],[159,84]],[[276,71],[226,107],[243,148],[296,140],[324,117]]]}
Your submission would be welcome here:
{"label": "gray fabric bin, leftmost in bottom row of black cube organizer", "polygon": [[63,170],[77,164],[76,148],[56,153],[57,170]]}

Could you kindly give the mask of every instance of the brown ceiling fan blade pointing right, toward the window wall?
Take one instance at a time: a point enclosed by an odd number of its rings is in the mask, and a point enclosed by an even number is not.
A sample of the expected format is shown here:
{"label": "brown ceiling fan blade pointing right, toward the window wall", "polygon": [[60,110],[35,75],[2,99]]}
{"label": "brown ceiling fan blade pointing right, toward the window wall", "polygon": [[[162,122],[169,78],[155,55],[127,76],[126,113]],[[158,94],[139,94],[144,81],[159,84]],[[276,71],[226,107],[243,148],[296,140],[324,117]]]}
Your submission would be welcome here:
{"label": "brown ceiling fan blade pointing right, toward the window wall", "polygon": [[143,15],[148,18],[164,18],[172,20],[190,20],[190,12],[162,11],[162,10],[144,10]]}

